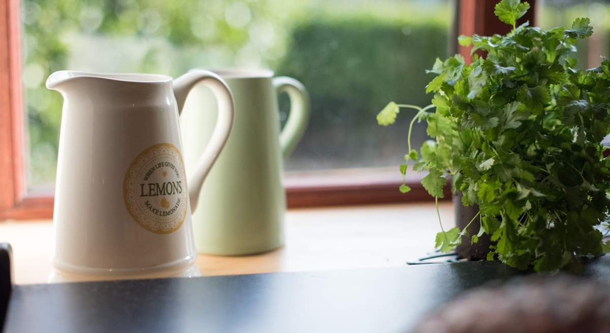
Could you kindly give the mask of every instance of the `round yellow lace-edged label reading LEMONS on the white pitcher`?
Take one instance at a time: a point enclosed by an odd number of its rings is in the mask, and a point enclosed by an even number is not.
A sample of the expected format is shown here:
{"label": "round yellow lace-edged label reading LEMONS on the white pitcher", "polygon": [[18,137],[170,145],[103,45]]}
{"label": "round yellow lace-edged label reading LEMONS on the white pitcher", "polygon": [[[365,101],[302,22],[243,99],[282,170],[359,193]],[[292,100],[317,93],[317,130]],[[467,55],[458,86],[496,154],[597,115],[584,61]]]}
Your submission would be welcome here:
{"label": "round yellow lace-edged label reading LEMONS on the white pitcher", "polygon": [[184,162],[171,143],[151,146],[135,157],[123,181],[129,214],[146,230],[171,234],[187,216]]}

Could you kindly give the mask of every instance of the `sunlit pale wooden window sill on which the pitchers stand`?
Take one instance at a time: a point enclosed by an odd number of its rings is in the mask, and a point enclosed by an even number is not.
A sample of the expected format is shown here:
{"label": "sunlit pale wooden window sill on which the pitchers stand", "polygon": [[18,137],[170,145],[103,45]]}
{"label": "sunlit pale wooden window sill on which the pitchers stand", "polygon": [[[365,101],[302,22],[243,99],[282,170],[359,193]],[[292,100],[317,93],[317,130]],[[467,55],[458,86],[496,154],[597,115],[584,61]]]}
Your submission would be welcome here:
{"label": "sunlit pale wooden window sill on which the pitchers stand", "polygon": [[[439,209],[443,225],[452,226],[451,203]],[[439,231],[431,202],[290,209],[285,223],[282,248],[243,257],[200,254],[201,276],[400,266],[431,251]],[[0,242],[13,246],[17,284],[48,283],[51,220],[0,221]]]}

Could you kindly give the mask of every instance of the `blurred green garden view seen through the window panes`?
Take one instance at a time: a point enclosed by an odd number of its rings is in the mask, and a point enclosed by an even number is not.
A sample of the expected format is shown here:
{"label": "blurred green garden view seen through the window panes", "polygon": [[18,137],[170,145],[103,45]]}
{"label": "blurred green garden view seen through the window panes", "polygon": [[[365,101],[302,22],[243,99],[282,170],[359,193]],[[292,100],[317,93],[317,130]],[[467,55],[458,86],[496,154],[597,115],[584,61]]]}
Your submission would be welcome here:
{"label": "blurred green garden view seen through the window panes", "polygon": [[[601,2],[547,0],[540,17],[554,26],[590,16],[605,52],[607,13]],[[29,185],[54,183],[62,98],[44,84],[64,69],[177,77],[191,68],[271,68],[303,82],[312,99],[287,170],[397,166],[411,117],[380,127],[375,115],[392,100],[429,104],[425,69],[447,56],[453,17],[450,0],[22,0]],[[416,127],[414,145],[425,139]]]}

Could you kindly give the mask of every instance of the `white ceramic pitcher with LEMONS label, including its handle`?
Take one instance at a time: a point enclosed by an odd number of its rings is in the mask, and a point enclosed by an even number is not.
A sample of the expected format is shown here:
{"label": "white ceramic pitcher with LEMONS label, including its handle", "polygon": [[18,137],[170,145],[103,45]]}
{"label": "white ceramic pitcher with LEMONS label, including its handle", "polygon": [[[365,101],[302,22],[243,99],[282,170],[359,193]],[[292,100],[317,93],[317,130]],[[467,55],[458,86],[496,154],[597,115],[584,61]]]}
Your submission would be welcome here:
{"label": "white ceramic pitcher with LEMONS label, including its handle", "polygon": [[[213,91],[218,106],[197,112],[218,110],[218,117],[207,124],[211,138],[187,182],[178,115],[198,82]],[[155,74],[59,71],[46,85],[64,99],[54,265],[80,274],[123,275],[193,263],[191,212],[233,123],[226,84],[209,71],[176,81]]]}

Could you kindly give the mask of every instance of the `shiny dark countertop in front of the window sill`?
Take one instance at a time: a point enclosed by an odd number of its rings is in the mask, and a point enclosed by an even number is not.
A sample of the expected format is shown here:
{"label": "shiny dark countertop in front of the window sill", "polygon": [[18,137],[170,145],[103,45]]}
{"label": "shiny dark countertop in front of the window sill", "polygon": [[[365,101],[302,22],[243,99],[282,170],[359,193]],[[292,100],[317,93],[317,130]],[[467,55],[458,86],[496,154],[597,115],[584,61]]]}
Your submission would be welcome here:
{"label": "shiny dark countertop in front of the window sill", "polygon": [[[404,332],[460,292],[523,274],[498,262],[15,285],[5,332]],[[584,276],[607,279],[610,257]]]}

